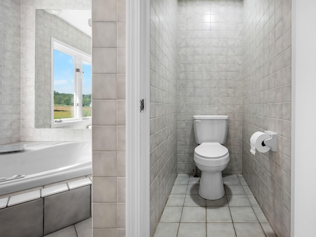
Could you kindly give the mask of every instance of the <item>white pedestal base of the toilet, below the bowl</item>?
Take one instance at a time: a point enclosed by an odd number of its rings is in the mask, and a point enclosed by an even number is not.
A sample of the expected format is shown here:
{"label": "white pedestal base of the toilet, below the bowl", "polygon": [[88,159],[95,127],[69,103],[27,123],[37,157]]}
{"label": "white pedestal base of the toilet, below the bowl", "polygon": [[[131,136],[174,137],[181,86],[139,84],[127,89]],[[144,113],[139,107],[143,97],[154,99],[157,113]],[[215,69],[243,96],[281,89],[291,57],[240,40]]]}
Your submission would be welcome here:
{"label": "white pedestal base of the toilet, below the bowl", "polygon": [[222,172],[202,171],[198,194],[208,200],[222,198],[225,195]]}

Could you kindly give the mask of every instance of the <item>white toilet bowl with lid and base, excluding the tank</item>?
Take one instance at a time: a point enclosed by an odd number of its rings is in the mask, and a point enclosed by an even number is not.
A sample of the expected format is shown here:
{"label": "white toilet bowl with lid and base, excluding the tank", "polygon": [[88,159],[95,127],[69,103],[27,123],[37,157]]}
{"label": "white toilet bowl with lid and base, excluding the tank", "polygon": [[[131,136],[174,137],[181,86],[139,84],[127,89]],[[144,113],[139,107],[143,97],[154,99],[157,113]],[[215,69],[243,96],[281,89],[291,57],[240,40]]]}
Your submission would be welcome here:
{"label": "white toilet bowl with lid and base, excluding the tank", "polygon": [[194,151],[194,161],[201,170],[199,196],[216,200],[224,196],[222,170],[230,160],[228,149],[218,142],[204,142]]}

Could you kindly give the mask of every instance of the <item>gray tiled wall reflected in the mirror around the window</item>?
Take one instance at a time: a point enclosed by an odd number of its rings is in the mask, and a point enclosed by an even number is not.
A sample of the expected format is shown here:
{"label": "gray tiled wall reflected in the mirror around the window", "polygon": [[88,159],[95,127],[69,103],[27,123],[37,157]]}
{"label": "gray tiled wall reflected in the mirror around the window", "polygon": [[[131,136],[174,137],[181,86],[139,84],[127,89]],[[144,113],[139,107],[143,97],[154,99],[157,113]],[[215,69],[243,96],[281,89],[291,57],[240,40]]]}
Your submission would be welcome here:
{"label": "gray tiled wall reflected in the mirror around the window", "polygon": [[42,9],[36,10],[35,29],[35,127],[50,128],[51,37],[90,55],[91,37]]}

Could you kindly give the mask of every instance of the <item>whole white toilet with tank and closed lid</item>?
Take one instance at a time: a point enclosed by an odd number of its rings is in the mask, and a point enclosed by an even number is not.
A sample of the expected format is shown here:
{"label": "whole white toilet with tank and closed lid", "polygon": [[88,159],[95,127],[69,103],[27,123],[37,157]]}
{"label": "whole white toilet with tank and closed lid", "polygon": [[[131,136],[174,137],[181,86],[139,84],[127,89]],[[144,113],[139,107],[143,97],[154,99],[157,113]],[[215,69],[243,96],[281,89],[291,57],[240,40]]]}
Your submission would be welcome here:
{"label": "whole white toilet with tank and closed lid", "polygon": [[230,160],[228,149],[221,144],[226,142],[228,116],[195,115],[194,135],[197,144],[194,150],[194,161],[199,168],[199,196],[216,200],[224,196],[222,170]]}

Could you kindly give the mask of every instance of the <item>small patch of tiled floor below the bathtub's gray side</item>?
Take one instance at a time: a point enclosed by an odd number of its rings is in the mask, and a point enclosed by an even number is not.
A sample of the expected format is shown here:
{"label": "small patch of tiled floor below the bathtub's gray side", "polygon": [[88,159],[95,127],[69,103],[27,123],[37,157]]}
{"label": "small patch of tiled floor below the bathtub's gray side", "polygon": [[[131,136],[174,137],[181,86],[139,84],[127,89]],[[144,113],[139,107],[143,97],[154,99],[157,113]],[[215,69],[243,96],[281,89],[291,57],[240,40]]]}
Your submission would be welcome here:
{"label": "small patch of tiled floor below the bathtub's gray side", "polygon": [[92,218],[86,219],[44,237],[92,237]]}

